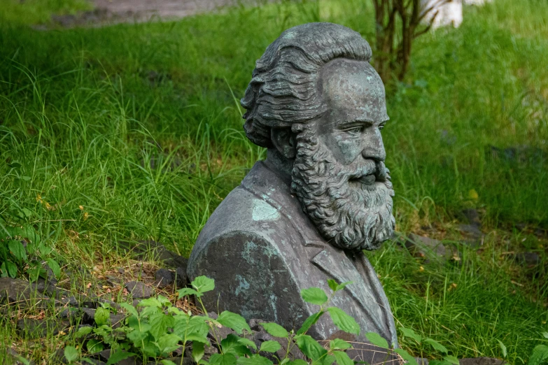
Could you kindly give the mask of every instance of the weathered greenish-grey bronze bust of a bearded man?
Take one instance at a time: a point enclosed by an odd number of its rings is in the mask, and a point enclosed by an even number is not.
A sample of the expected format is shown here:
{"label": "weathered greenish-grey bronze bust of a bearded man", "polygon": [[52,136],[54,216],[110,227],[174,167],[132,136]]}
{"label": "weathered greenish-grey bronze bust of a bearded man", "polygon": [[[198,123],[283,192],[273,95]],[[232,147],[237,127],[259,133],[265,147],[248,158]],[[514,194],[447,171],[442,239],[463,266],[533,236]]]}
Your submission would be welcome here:
{"label": "weathered greenish-grey bronze bust of a bearded man", "polygon": [[[298,328],[318,306],[300,291],[353,282],[333,299],[360,324],[397,345],[388,300],[363,250],[393,234],[394,194],[381,129],[384,85],[371,48],[331,23],[288,29],[257,61],[241,99],[244,129],[267,159],[213,212],[188,264],[216,292],[209,308]],[[327,316],[309,331],[330,338]]]}

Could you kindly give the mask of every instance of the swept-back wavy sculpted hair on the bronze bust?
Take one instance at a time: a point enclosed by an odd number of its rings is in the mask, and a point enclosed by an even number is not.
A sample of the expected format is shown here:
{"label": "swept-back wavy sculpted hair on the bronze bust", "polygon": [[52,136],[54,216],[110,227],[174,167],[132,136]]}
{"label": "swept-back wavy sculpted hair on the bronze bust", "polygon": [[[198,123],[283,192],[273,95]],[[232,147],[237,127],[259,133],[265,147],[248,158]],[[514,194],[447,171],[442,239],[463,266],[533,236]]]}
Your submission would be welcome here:
{"label": "swept-back wavy sculpted hair on the bronze bust", "polygon": [[241,106],[244,129],[256,145],[273,147],[270,129],[290,127],[325,112],[318,91],[321,67],[335,58],[369,62],[370,45],[357,31],[332,23],[284,31],[255,63]]}

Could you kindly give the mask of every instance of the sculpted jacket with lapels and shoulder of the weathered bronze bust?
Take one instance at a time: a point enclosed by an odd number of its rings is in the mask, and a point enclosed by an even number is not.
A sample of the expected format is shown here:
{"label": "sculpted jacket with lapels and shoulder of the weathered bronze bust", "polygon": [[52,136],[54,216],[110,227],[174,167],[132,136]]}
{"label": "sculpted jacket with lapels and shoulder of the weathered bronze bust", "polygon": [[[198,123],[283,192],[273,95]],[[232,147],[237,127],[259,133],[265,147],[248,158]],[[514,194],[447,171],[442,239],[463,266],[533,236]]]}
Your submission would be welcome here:
{"label": "sculpted jacket with lapels and shoulder of the weathered bronze bust", "polygon": [[[213,212],[199,234],[188,262],[188,276],[215,279],[216,292],[204,296],[206,308],[230,310],[298,329],[318,306],[306,303],[302,289],[328,279],[352,281],[335,295],[360,325],[357,341],[377,332],[397,346],[393,316],[373,267],[362,252],[339,250],[321,237],[290,186],[263,162]],[[324,315],[309,334],[330,338],[337,328]]]}

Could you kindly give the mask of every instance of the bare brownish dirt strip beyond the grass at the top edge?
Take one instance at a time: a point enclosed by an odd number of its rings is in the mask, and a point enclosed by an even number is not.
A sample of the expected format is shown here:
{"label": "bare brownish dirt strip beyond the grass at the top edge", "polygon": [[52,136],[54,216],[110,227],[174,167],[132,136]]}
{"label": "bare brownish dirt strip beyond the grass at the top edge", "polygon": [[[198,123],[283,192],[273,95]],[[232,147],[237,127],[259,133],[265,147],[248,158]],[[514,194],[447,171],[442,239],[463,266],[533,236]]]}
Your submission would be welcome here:
{"label": "bare brownish dirt strip beyond the grass at the top edge", "polygon": [[92,0],[94,10],[76,15],[53,15],[57,26],[100,27],[121,22],[175,20],[220,11],[237,5],[253,6],[260,0]]}

